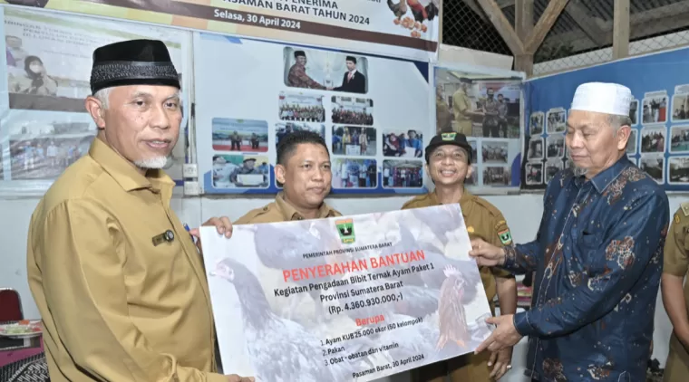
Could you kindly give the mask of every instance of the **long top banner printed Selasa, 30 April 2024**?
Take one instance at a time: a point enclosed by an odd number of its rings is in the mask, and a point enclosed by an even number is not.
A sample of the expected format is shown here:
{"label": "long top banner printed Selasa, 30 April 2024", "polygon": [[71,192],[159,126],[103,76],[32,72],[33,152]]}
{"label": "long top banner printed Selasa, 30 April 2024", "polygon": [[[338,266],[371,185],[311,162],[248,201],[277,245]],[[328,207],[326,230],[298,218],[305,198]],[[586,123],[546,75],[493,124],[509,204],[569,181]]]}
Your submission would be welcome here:
{"label": "long top banner printed Selasa, 30 April 2024", "polygon": [[441,0],[0,0],[0,4],[435,61]]}

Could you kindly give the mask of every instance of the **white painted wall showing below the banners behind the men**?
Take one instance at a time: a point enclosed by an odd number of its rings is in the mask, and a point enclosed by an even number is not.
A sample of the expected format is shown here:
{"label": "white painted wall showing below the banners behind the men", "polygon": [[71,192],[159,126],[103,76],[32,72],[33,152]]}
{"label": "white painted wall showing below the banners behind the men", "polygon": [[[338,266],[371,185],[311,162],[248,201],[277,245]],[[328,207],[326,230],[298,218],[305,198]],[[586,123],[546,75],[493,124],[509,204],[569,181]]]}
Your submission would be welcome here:
{"label": "white painted wall showing below the banners behind the men", "polygon": [[[507,219],[512,236],[517,243],[533,240],[539,227],[540,216],[543,212],[542,195],[523,194],[519,196],[488,196],[492,204],[496,205]],[[328,201],[345,215],[364,214],[399,209],[407,197],[364,197],[364,198],[333,198]],[[686,196],[670,196],[670,209],[679,208],[680,203],[687,200]],[[173,208],[183,223],[198,226],[214,215],[228,215],[232,220],[237,219],[249,209],[257,208],[269,202],[266,198],[186,198],[174,199]],[[0,287],[11,287],[18,290],[24,303],[24,315],[27,318],[38,318],[26,282],[26,231],[29,219],[38,203],[38,199],[0,200]],[[668,339],[672,329],[667,319],[663,303],[658,298],[655,312],[655,349],[654,358],[665,365],[668,351]],[[515,351],[513,365],[515,370],[509,373],[508,382],[521,382],[526,378],[518,372],[523,359],[526,344],[519,344]],[[519,359],[518,359],[519,358]],[[522,366],[523,369],[523,366]],[[385,378],[383,381],[404,382],[408,377],[401,375]],[[381,382],[383,382],[381,381]]]}

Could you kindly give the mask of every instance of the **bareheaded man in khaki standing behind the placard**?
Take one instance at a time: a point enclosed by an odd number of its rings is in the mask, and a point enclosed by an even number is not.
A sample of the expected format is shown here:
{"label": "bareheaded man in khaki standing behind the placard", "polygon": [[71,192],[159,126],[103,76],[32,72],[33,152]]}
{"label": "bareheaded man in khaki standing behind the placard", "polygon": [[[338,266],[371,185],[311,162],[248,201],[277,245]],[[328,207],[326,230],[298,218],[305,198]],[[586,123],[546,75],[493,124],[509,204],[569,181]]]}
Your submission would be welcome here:
{"label": "bareheaded man in khaki standing behind the placard", "polygon": [[251,210],[235,224],[279,223],[342,216],[325,204],[333,174],[325,140],[308,130],[287,134],[277,146],[275,176],[283,186],[275,201]]}

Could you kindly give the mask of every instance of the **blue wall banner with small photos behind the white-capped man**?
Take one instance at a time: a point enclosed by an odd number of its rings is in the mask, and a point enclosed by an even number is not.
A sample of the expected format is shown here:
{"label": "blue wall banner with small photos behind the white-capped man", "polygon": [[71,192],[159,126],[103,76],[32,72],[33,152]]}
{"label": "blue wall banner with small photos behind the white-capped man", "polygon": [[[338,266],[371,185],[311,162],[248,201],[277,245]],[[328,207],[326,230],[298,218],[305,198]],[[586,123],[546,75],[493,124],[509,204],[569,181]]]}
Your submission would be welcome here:
{"label": "blue wall banner with small photos behind the white-capped man", "polygon": [[628,87],[632,136],[628,158],[666,191],[689,191],[689,49],[649,54],[528,81],[524,189],[544,189],[570,166],[565,133],[577,86],[590,81]]}

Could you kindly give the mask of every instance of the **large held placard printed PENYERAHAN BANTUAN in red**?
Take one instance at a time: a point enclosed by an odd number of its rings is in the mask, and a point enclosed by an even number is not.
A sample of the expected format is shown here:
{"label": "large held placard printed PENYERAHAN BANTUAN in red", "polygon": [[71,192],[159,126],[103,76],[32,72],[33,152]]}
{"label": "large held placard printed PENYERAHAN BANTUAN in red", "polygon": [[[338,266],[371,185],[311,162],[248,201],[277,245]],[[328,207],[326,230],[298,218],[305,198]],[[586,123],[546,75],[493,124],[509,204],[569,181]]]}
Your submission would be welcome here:
{"label": "large held placard printed PENYERAHAN BANTUAN in red", "polygon": [[460,205],[202,227],[225,372],[370,381],[453,358],[490,335]]}

